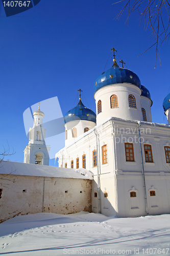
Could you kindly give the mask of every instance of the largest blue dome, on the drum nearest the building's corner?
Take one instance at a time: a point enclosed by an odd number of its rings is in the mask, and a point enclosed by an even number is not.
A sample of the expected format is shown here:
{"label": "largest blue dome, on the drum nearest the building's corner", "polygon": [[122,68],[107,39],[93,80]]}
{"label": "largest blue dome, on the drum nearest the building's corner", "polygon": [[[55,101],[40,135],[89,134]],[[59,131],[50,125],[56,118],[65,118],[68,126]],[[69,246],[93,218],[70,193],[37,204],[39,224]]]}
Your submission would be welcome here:
{"label": "largest blue dome, on the drum nearest the building's corner", "polygon": [[94,93],[102,87],[115,83],[132,83],[140,88],[141,83],[139,77],[129,69],[120,68],[116,62],[113,63],[111,69],[103,72],[94,82]]}

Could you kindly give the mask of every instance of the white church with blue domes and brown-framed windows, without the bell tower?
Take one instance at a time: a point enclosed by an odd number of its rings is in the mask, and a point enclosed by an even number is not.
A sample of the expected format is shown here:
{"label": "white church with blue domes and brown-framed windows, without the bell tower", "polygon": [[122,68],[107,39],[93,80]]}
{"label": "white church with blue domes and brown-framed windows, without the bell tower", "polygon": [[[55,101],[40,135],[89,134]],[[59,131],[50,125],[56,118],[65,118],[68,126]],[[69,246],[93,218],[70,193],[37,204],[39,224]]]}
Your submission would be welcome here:
{"label": "white church with blue domes and brown-framed windows, without the bell tower", "polygon": [[[170,213],[170,126],[152,122],[150,92],[113,65],[94,82],[96,115],[81,101],[65,116],[60,167],[93,173],[92,211],[133,217]],[[163,102],[170,123],[170,95]]]}

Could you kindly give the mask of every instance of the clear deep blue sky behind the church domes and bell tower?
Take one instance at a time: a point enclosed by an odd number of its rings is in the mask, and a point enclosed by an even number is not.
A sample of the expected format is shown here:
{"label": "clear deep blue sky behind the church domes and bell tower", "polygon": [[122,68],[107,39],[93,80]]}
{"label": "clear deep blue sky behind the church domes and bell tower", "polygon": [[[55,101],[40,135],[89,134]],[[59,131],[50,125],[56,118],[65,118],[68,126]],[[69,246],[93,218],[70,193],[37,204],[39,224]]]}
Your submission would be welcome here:
{"label": "clear deep blue sky behind the church domes and bell tower", "polygon": [[125,24],[127,12],[114,20],[123,5],[112,3],[41,0],[10,17],[0,3],[0,148],[8,141],[16,152],[6,159],[23,161],[28,138],[22,115],[31,105],[57,96],[64,115],[78,103],[81,88],[84,105],[95,112],[93,83],[111,67],[113,47],[117,62],[123,59],[150,90],[153,121],[167,123],[162,102],[170,86],[169,42],[160,45],[161,66],[157,61],[154,69],[155,48],[138,57],[154,42],[151,31],[144,30],[144,23],[139,26],[138,13],[129,24]]}

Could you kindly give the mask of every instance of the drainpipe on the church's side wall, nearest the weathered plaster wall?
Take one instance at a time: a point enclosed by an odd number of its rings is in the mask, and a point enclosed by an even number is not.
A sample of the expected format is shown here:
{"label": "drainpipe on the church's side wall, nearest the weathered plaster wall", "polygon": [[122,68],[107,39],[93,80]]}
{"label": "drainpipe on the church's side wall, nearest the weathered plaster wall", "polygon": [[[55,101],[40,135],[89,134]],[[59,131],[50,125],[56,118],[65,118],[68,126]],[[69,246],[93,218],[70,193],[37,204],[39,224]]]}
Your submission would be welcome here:
{"label": "drainpipe on the church's side wall, nearest the weathered plaster wall", "polygon": [[[96,137],[96,157],[97,157],[97,170],[98,170],[98,212],[99,214],[101,213],[101,197],[100,197],[100,189],[101,189],[101,184],[100,184],[100,149],[99,149],[99,137],[98,134],[96,133],[96,130],[94,129],[94,134]],[[99,157],[98,157],[99,156]]]}

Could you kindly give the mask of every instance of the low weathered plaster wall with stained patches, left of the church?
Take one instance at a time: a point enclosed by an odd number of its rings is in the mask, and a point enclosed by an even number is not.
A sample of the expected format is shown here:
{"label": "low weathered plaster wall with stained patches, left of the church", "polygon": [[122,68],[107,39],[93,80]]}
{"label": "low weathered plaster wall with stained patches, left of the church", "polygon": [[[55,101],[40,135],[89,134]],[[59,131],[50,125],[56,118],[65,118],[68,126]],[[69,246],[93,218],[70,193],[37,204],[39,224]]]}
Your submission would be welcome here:
{"label": "low weathered plaster wall with stained patches, left of the church", "polygon": [[16,215],[91,212],[91,180],[0,174],[0,222]]}

